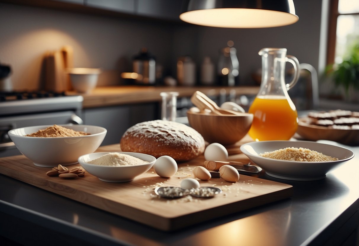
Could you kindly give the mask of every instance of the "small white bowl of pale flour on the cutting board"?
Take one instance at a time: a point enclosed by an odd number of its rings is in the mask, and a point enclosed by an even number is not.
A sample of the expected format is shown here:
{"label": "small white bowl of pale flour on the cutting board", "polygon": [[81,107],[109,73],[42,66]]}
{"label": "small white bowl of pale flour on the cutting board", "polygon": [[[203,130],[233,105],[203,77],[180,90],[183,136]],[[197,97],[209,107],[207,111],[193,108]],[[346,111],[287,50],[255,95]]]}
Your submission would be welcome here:
{"label": "small white bowl of pale flour on the cutting board", "polygon": [[[89,161],[97,159],[108,153],[121,153],[125,155],[130,155],[143,161],[148,161],[149,163],[135,166],[103,166],[88,163]],[[99,180],[115,183],[134,180],[136,176],[150,170],[150,168],[155,163],[156,158],[151,155],[135,152],[99,152],[80,156],[78,161],[87,172],[96,176],[97,178],[99,178]]]}

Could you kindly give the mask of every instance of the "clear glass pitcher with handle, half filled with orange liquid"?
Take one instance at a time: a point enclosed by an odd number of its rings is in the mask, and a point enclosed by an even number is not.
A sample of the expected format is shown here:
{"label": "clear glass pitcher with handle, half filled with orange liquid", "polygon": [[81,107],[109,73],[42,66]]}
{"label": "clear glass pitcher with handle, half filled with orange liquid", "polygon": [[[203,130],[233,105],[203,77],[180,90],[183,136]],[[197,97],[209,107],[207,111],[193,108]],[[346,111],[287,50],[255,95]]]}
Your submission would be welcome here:
{"label": "clear glass pitcher with handle, half filled with orange liquid", "polygon": [[[252,113],[253,123],[248,134],[255,141],[288,140],[298,128],[298,113],[288,95],[299,78],[299,62],[294,56],[287,56],[286,48],[263,48],[262,81],[260,90],[248,113]],[[294,67],[294,77],[285,83],[285,63]]]}

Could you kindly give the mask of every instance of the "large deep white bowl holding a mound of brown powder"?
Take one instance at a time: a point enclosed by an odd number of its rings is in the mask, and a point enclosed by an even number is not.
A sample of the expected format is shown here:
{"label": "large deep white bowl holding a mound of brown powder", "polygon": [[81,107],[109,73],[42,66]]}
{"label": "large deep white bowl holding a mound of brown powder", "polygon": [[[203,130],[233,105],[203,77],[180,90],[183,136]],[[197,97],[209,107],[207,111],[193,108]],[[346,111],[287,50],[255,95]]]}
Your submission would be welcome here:
{"label": "large deep white bowl holding a mound of brown powder", "polygon": [[34,165],[54,167],[59,164],[71,165],[78,162],[81,155],[92,153],[101,145],[107,130],[98,126],[59,125],[74,131],[91,133],[79,137],[26,137],[25,135],[46,129],[49,126],[22,127],[8,132],[18,150]]}

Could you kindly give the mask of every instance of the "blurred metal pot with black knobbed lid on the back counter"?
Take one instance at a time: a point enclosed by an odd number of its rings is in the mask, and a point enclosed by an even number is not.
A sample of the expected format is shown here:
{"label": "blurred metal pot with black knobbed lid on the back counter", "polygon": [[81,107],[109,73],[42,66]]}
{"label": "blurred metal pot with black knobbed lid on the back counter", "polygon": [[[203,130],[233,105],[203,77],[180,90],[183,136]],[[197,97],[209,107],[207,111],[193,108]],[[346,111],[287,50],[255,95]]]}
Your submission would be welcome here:
{"label": "blurred metal pot with black knobbed lid on the back counter", "polygon": [[137,74],[135,84],[154,85],[156,82],[156,60],[147,48],[142,48],[132,62],[133,71]]}

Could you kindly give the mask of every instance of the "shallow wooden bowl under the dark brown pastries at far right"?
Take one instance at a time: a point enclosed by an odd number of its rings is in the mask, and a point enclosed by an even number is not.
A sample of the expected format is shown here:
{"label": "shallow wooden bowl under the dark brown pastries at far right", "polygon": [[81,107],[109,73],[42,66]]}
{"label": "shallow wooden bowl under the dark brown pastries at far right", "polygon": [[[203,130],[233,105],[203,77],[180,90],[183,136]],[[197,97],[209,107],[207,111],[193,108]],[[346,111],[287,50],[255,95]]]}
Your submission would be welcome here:
{"label": "shallow wooden bowl under the dark brown pastries at far right", "polygon": [[330,140],[344,145],[359,145],[359,130],[356,129],[330,129],[327,127],[315,126],[307,123],[307,118],[300,118],[297,133],[304,139]]}

